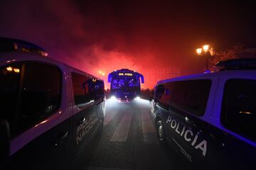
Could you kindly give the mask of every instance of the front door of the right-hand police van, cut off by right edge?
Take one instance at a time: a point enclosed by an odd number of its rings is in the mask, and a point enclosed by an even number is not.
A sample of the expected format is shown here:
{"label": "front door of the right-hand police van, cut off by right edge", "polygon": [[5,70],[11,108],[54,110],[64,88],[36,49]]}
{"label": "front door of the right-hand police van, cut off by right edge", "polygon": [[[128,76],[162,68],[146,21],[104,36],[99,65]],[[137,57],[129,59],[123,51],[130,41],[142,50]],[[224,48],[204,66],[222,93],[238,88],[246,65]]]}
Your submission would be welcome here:
{"label": "front door of the right-hand police van, cut off by right edge", "polygon": [[220,76],[206,169],[255,169],[256,74],[242,72]]}

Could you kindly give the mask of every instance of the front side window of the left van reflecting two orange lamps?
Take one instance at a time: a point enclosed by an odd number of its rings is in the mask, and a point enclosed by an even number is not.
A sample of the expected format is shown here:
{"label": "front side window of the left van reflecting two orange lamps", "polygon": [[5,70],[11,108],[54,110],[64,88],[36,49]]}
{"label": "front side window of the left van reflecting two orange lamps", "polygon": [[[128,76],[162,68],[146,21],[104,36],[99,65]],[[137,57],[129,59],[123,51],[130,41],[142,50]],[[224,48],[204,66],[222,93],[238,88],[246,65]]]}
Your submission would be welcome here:
{"label": "front side window of the left van reflecting two orange lamps", "polygon": [[60,106],[61,72],[41,63],[10,64],[0,69],[2,118],[11,137],[43,120]]}

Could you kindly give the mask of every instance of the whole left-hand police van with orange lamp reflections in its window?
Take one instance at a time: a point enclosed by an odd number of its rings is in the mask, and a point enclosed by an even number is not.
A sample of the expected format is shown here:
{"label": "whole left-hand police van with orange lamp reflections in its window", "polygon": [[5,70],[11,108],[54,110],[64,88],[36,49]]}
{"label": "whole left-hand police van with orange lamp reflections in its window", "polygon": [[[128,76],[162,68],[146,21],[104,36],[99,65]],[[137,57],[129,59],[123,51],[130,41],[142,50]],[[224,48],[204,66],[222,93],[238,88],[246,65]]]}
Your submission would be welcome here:
{"label": "whole left-hand police van with orange lamp reflections in its window", "polygon": [[2,168],[70,169],[101,135],[104,81],[47,55],[0,38]]}

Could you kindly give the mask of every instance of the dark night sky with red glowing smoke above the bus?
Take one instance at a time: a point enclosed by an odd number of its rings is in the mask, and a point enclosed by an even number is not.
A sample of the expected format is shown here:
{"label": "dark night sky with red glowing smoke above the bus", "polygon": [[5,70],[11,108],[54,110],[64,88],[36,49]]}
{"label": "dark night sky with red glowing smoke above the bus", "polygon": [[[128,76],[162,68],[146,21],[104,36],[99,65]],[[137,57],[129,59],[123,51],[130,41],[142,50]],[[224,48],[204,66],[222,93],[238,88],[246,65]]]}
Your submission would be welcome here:
{"label": "dark night sky with red glowing smoke above the bus", "polygon": [[144,88],[202,72],[195,50],[205,43],[256,47],[256,6],[245,1],[0,1],[0,36],[34,42],[105,80],[114,69],[135,69]]}

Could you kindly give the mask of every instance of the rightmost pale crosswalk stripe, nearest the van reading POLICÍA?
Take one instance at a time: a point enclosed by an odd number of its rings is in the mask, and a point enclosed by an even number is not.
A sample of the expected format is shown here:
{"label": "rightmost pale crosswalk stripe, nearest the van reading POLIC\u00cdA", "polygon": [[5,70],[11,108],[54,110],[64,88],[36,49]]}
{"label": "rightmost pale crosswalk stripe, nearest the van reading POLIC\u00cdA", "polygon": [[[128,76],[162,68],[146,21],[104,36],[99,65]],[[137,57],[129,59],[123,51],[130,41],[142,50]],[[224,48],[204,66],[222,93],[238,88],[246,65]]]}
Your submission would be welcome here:
{"label": "rightmost pale crosswalk stripe, nearest the van reading POLIC\u00cdA", "polygon": [[157,144],[156,129],[154,128],[149,112],[147,109],[141,109],[143,140],[144,142]]}

